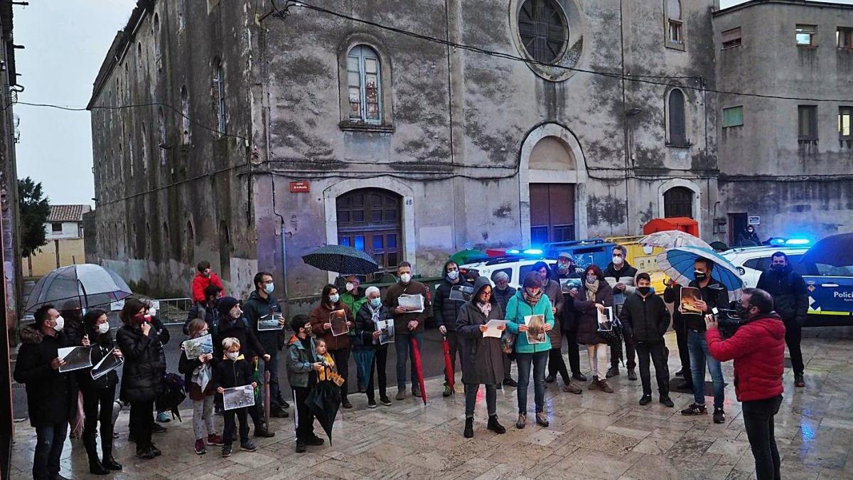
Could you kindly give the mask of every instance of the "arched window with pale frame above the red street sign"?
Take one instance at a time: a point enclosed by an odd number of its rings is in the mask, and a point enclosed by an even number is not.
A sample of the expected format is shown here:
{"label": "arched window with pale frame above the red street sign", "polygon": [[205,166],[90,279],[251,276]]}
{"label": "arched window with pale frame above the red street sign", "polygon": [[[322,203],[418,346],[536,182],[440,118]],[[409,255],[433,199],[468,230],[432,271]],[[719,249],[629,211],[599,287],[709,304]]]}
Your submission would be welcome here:
{"label": "arched window with pale frame above the red street sign", "polygon": [[346,57],[346,79],[350,121],[382,123],[382,80],[380,58],[367,45],[352,47]]}

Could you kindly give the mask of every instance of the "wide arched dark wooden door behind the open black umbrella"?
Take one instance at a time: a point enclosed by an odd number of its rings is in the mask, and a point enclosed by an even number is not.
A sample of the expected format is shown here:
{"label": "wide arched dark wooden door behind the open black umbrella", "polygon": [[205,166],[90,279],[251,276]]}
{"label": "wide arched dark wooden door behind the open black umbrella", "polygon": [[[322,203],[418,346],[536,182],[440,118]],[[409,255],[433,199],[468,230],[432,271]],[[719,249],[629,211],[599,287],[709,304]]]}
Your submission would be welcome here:
{"label": "wide arched dark wooden door behind the open black umbrella", "polygon": [[339,245],[368,253],[380,266],[367,279],[393,272],[403,259],[400,196],[388,190],[352,190],[338,197],[337,211]]}

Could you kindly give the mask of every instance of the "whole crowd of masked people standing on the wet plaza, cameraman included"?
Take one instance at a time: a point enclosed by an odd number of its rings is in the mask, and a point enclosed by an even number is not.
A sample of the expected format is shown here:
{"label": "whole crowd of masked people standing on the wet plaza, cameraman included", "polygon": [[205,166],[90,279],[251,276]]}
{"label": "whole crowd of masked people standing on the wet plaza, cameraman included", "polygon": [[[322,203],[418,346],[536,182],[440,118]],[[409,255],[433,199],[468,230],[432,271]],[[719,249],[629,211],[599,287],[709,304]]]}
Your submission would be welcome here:
{"label": "whole crowd of masked people standing on the wet plaza, cameraman included", "polygon": [[[292,390],[296,452],[308,446],[322,445],[314,432],[312,410],[306,405],[318,382],[335,378],[340,388],[340,407],[352,408],[349,401],[349,361],[351,354],[366,355],[368,368],[357,369],[357,391],[367,395],[368,408],[379,402],[392,405],[387,391],[386,367],[388,342],[383,325],[393,325],[393,343],[397,354],[396,401],[409,394],[421,397],[415,367],[415,348],[421,348],[427,318],[434,315],[438,331],[450,344],[450,367],[444,372],[444,396],[453,393],[456,360],[461,363],[461,383],[465,391],[465,424],[462,433],[474,436],[474,411],[480,385],[485,388],[488,413],[486,428],[497,434],[506,432],[499,422],[496,390],[516,388],[517,429],[527,424],[528,387],[531,373],[536,424],[548,427],[545,413],[546,383],[560,377],[562,390],[582,395],[583,388],[613,393],[607,379],[620,375],[624,359],[627,376],[636,380],[639,367],[641,406],[652,401],[651,367],[654,367],[659,402],[674,407],[670,398],[669,350],[664,333],[671,324],[676,330],[683,382],[676,388],[693,390],[693,403],[683,415],[708,413],[705,407],[705,366],[713,383],[713,421],[725,422],[724,383],[721,362],[734,359],[734,385],[743,405],[746,432],[756,458],[757,477],[779,475],[779,454],[775,447],[773,417],[778,412],[782,393],[785,343],[791,351],[795,383],[804,386],[800,333],[806,311],[803,278],[787,264],[786,255],[776,253],[769,272],[758,282],[758,289],[743,290],[737,308],[742,325],[733,337],[723,339],[714,313],[729,307],[728,291],[713,278],[715,264],[708,259],[695,261],[690,284],[699,290],[695,301],[699,312],[683,310],[679,305],[682,286],[669,283],[664,292],[655,292],[647,272],[637,272],[626,260],[626,250],[617,246],[612,262],[603,270],[589,265],[579,268],[572,255],[560,254],[552,269],[546,262],[534,265],[518,289],[509,285],[505,272],[492,278],[461,276],[459,266],[448,261],[438,289],[431,292],[412,277],[412,266],[397,267],[396,284],[386,289],[364,289],[356,276],[346,278],[345,292],[328,284],[310,315],[284,319],[274,299],[275,285],[268,272],[258,272],[254,290],[245,303],[223,296],[223,285],[207,262],[198,266],[193,280],[194,307],[184,325],[188,338],[212,337],[213,351],[190,359],[183,351],[178,371],[193,406],[194,451],[205,454],[208,446],[222,447],[223,457],[232,454],[239,435],[240,449],[256,449],[249,438],[248,420],[253,435],[274,436],[264,422],[267,415],[285,418],[290,407],[279,387],[278,352],[285,356],[287,380]],[[577,279],[572,288],[564,288],[561,279]],[[467,292],[467,295],[458,295]],[[662,293],[663,295],[658,295]],[[421,296],[423,307],[401,305],[401,296]],[[670,308],[665,303],[675,303]],[[30,421],[38,442],[33,459],[34,478],[62,478],[59,462],[69,423],[82,421],[82,439],[89,458],[90,471],[107,474],[119,471],[113,459],[113,408],[119,389],[118,405],[130,406],[129,437],[136,443],[136,457],[153,459],[161,454],[154,445],[153,433],[165,431],[155,422],[154,402],[164,389],[166,361],[163,345],[169,332],[157,319],[153,303],[131,297],[125,300],[119,317],[122,326],[112,331],[107,313],[90,309],[60,313],[51,305],[40,307],[35,322],[20,332],[22,346],[15,366],[15,380],[26,384]],[[333,331],[334,314],[345,322],[345,334]],[[612,317],[607,315],[612,313]],[[277,319],[280,328],[259,330],[261,319]],[[533,319],[541,319],[536,323]],[[490,322],[497,322],[499,335],[486,335]],[[292,334],[285,334],[285,326]],[[288,337],[289,336],[289,337]],[[562,354],[567,343],[568,366]],[[580,366],[579,345],[585,345],[591,378]],[[124,360],[121,381],[115,371],[94,379],[89,369],[61,372],[65,365],[57,351],[67,346],[90,347],[92,365],[107,355]],[[623,355],[624,353],[624,355]],[[512,364],[518,377],[511,377]],[[258,389],[264,373],[269,373],[269,411],[264,404],[224,409],[225,389],[250,385]],[[375,378],[375,383],[374,383]],[[411,383],[410,390],[407,387]],[[377,387],[374,389],[374,385]],[[78,398],[83,415],[78,413]],[[218,434],[216,414],[223,414],[223,432]],[[239,421],[239,431],[236,422]],[[101,437],[97,453],[96,432]]]}

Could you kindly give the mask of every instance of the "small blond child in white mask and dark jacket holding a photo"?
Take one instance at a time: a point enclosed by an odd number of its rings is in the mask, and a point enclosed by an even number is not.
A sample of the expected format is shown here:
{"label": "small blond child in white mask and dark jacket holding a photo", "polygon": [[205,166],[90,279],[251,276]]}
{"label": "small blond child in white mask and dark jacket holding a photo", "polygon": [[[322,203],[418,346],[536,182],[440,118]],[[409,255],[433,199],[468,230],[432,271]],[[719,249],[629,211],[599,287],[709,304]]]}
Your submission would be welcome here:
{"label": "small blond child in white mask and dark jacket holding a photo", "polygon": [[[252,385],[252,389],[258,383],[252,381],[252,362],[240,353],[240,340],[228,337],[222,341],[223,358],[213,369],[213,385],[219,395],[225,389],[233,389],[244,385]],[[222,456],[231,456],[231,442],[234,439],[235,421],[234,417],[240,419],[240,448],[247,452],[254,452],[258,448],[249,440],[249,424],[247,422],[248,407],[233,408],[225,410],[225,430],[223,432]]]}

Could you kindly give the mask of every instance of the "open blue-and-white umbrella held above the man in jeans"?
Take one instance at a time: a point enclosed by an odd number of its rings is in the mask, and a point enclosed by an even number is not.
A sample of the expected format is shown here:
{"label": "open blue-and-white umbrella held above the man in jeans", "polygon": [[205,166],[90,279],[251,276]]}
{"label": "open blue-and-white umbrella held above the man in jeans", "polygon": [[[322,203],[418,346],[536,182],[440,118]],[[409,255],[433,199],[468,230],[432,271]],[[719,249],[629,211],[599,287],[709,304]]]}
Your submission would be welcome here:
{"label": "open blue-and-white umbrella held above the man in jeans", "polygon": [[669,249],[658,255],[658,266],[676,284],[687,285],[695,279],[693,278],[693,264],[696,263],[696,259],[701,257],[714,262],[714,270],[711,271],[711,278],[714,278],[722,286],[726,287],[729,294],[743,288],[744,282],[740,278],[737,268],[732,265],[732,262],[711,249],[702,249],[699,247]]}

